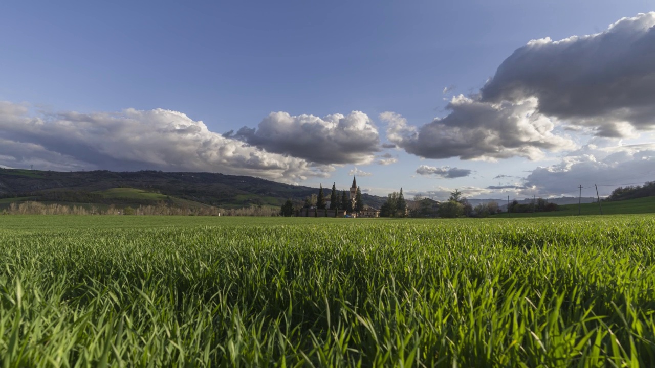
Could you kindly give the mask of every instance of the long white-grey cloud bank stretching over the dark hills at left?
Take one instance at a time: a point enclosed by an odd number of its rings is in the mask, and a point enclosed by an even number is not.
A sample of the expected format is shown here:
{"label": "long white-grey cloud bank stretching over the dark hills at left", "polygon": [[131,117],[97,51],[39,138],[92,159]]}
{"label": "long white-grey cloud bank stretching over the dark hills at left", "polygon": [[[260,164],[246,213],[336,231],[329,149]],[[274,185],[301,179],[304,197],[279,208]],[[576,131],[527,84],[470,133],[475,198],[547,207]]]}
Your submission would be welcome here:
{"label": "long white-grey cloud bank stretching over the dark hills at left", "polygon": [[225,138],[202,121],[164,109],[32,116],[26,106],[5,101],[0,136],[0,164],[14,167],[207,171],[287,182],[333,170]]}

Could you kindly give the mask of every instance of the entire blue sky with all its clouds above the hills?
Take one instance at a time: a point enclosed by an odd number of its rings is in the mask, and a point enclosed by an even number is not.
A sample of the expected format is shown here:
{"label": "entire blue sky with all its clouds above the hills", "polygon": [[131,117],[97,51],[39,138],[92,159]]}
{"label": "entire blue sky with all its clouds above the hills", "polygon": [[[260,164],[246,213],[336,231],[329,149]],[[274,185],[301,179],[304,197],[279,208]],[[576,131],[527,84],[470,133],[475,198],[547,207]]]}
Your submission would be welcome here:
{"label": "entire blue sky with all its clouds above the hills", "polygon": [[655,180],[650,1],[22,1],[0,166],[443,200]]}

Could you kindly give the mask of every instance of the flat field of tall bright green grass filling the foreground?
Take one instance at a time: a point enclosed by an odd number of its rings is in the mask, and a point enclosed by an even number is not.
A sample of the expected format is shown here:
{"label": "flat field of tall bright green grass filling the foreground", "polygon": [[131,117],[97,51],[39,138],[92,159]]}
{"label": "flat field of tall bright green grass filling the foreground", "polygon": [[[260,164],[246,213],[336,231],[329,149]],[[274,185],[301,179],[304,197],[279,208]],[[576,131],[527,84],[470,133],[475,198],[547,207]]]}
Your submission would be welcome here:
{"label": "flat field of tall bright green grass filling the foreground", "polygon": [[655,216],[0,216],[0,360],[650,367]]}

